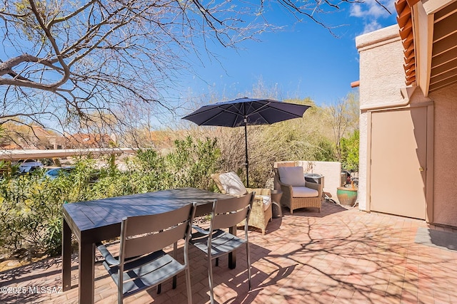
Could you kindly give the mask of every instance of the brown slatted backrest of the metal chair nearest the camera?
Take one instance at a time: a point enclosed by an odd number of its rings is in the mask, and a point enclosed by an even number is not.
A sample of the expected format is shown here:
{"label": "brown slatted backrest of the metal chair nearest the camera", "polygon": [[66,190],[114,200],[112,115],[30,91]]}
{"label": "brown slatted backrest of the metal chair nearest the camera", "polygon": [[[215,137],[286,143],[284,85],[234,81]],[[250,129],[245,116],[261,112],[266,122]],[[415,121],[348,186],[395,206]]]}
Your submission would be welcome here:
{"label": "brown slatted backrest of the metal chair nearest the camera", "polygon": [[122,219],[119,260],[161,250],[179,239],[189,241],[196,203],[179,209]]}

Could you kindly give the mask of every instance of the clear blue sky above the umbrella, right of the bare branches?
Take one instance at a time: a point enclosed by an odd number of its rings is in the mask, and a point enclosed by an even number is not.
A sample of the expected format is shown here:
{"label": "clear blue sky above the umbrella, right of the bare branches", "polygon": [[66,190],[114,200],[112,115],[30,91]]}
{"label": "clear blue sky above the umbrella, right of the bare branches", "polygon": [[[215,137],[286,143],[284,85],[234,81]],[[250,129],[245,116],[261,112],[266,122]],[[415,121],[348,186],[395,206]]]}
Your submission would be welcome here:
{"label": "clear blue sky above the umbrella, right of the bare branches", "polygon": [[283,31],[263,33],[261,42],[245,41],[236,50],[214,48],[220,63],[196,63],[198,76],[182,80],[181,98],[208,103],[211,95],[222,100],[254,97],[253,87],[262,83],[278,99],[309,97],[317,105],[334,103],[358,80],[356,36],[395,24],[393,2],[381,1],[391,15],[374,0],[341,4],[339,11],[323,16],[326,24],[338,26],[333,28],[337,37],[311,19],[296,23],[280,9],[270,11],[268,16],[285,26]]}

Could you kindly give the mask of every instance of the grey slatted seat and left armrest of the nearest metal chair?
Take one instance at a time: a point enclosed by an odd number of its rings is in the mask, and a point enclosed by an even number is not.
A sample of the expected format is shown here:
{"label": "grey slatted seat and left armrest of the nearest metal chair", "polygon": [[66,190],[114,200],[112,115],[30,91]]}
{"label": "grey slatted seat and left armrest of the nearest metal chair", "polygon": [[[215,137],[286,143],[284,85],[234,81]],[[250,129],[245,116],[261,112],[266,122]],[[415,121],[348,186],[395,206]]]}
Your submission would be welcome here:
{"label": "grey slatted seat and left armrest of the nearest metal chair", "polygon": [[[106,261],[103,263],[111,278],[117,285],[119,274],[118,266],[110,266]],[[170,276],[177,275],[184,271],[186,266],[182,265],[164,251],[156,251],[148,256],[139,258],[136,261],[126,263],[124,266],[124,296],[138,293],[151,286],[159,285]]]}

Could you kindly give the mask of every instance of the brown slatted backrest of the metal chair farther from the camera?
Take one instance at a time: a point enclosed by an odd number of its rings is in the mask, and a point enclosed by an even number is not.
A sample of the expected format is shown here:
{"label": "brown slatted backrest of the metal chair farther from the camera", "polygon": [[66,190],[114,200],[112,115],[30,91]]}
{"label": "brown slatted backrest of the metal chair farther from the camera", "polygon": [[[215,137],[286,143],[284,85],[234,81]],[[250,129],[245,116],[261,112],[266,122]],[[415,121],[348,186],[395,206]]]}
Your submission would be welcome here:
{"label": "brown slatted backrest of the metal chair farther from the camera", "polygon": [[236,226],[243,219],[246,219],[247,223],[254,195],[255,192],[251,192],[240,197],[215,200],[211,212],[210,232]]}

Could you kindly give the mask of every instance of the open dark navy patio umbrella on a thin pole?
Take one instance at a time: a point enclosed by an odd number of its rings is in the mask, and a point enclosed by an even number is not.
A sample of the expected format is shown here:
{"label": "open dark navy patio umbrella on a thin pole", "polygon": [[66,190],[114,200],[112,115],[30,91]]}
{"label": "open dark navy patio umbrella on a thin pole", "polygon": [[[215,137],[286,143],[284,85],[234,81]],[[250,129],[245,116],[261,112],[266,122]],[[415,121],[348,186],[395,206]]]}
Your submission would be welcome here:
{"label": "open dark navy patio umbrella on a thin pole", "polygon": [[244,142],[246,151],[246,184],[249,187],[248,162],[248,125],[271,125],[283,120],[302,117],[309,105],[283,103],[278,100],[261,98],[238,98],[204,105],[195,112],[183,117],[197,125],[214,125],[221,127],[244,126]]}

